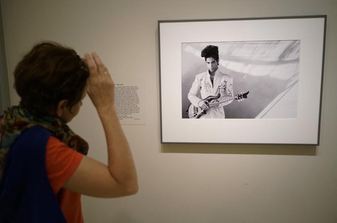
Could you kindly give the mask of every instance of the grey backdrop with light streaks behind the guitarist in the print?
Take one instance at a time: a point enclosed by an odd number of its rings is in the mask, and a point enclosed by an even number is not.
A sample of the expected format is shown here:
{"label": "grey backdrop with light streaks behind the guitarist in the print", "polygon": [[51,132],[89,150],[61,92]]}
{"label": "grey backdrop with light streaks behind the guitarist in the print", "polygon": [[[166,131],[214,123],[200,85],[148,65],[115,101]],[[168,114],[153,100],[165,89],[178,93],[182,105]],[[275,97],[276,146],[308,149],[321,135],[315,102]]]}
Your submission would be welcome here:
{"label": "grey backdrop with light streaks behind the guitarist in the print", "polygon": [[219,47],[219,69],[233,77],[234,94],[247,100],[225,106],[226,118],[296,118],[300,41],[182,44],[182,117],[188,118],[188,91],[195,75],[207,71],[201,50]]}

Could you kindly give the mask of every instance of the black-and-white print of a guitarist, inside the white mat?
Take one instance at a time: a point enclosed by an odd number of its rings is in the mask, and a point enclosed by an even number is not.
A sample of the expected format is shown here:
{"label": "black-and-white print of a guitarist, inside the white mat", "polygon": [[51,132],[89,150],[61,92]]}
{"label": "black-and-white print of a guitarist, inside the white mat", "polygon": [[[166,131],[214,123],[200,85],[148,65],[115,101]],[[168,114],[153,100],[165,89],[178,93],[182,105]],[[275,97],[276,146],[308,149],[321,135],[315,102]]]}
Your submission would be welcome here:
{"label": "black-and-white print of a guitarist, inside the white mat", "polygon": [[296,118],[300,41],[182,43],[182,118]]}

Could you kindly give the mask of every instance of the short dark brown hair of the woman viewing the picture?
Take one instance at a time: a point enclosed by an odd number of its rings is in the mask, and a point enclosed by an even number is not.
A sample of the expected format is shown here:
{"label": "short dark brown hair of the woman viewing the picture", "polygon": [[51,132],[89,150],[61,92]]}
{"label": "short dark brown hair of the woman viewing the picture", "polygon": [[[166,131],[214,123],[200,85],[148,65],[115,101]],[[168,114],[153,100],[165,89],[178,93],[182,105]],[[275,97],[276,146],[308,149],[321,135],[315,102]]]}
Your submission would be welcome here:
{"label": "short dark brown hair of the woman viewing the picture", "polygon": [[81,100],[88,67],[76,51],[54,42],[35,45],[14,71],[20,106],[37,115],[55,115],[61,100],[70,109]]}

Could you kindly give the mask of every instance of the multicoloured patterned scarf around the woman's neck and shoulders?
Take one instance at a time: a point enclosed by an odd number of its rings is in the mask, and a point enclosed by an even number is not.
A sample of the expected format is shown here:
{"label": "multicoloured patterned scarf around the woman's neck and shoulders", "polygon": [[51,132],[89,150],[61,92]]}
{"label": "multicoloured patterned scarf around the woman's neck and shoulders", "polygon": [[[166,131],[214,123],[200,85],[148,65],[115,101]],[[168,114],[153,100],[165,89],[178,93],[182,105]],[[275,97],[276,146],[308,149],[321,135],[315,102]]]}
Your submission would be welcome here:
{"label": "multicoloured patterned scarf around the woman's neck and shoulders", "polygon": [[59,118],[51,116],[37,117],[20,106],[13,106],[5,111],[0,128],[0,179],[10,147],[21,133],[33,126],[41,126],[49,130],[60,141],[84,155],[88,153],[88,143],[76,135]]}

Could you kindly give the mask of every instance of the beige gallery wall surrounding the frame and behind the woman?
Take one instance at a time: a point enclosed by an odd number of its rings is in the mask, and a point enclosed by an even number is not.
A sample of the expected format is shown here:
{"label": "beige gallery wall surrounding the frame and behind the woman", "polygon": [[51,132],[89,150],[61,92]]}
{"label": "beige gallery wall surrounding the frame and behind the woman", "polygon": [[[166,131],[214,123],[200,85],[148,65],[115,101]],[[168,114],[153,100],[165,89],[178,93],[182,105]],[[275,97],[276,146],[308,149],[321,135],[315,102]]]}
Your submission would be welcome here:
{"label": "beige gallery wall surrounding the frame and behind the woman", "polygon": [[[95,50],[114,78],[144,80],[146,125],[123,125],[140,191],[120,199],[83,197],[86,222],[337,222],[335,0],[1,3],[10,86],[20,56],[40,40],[81,55]],[[160,144],[157,20],[317,14],[327,15],[320,146]],[[89,141],[89,155],[105,162],[102,126],[88,99],[71,126]]]}

